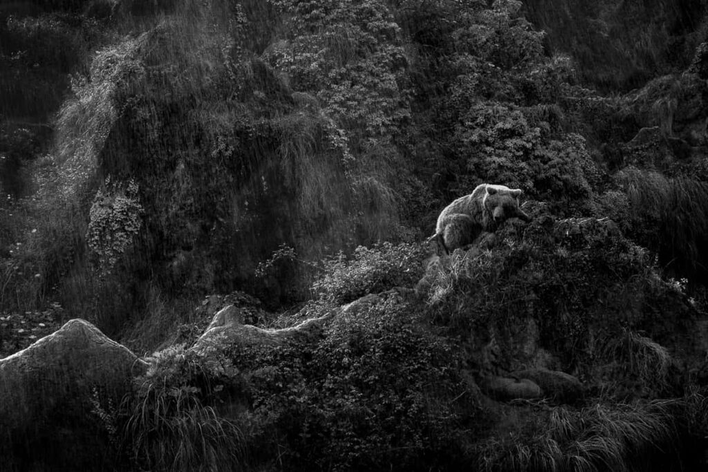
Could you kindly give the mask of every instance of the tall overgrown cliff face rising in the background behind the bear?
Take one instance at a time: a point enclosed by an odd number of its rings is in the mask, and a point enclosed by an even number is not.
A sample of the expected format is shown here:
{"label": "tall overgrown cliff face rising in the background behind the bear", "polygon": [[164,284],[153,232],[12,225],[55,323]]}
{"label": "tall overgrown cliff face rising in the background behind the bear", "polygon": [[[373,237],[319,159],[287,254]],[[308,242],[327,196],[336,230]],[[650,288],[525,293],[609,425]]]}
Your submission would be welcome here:
{"label": "tall overgrown cliff face rising in the background behind the bear", "polygon": [[[240,287],[287,303],[307,297],[314,261],[422,237],[484,181],[581,216],[629,163],[698,168],[685,157],[703,145],[700,81],[621,99],[592,88],[683,71],[704,39],[701,1],[141,5],[3,7],[6,303],[53,292],[88,316],[98,294],[117,320],[157,293]],[[660,137],[666,152],[625,149],[642,127],[673,139]],[[114,205],[127,185],[132,215]],[[99,189],[104,216],[142,232],[98,241],[114,236],[91,221]]]}

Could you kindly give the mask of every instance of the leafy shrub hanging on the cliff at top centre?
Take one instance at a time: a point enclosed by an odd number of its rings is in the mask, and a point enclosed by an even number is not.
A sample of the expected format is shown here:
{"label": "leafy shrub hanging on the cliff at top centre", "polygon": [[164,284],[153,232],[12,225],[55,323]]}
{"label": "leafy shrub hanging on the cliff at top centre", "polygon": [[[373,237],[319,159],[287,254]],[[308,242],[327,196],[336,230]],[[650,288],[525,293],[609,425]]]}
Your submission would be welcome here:
{"label": "leafy shrub hanging on the cliff at top centre", "polygon": [[[295,40],[271,57],[297,91],[314,91],[333,120],[360,137],[381,137],[408,117],[399,26],[385,2],[274,2],[292,16]],[[323,80],[326,78],[326,80]]]}

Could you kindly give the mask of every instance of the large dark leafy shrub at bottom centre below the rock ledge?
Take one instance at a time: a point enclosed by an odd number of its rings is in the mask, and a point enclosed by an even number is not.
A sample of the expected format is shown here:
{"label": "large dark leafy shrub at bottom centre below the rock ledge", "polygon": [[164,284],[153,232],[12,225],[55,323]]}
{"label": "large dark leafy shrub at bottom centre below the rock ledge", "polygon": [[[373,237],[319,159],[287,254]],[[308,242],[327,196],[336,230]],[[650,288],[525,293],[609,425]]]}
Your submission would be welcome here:
{"label": "large dark leafy shrub at bottom centre below the rock ledge", "polygon": [[464,464],[479,415],[444,338],[389,299],[341,314],[319,345],[236,348],[253,454],[291,470],[421,470]]}

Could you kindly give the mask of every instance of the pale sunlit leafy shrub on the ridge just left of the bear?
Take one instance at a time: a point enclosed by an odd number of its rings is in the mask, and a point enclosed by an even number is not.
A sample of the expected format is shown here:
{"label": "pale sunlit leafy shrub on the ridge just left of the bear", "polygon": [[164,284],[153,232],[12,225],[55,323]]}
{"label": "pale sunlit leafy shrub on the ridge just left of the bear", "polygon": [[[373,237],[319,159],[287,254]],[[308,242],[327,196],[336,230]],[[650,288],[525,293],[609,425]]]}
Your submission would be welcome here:
{"label": "pale sunlit leafy shrub on the ridge just left of the bear", "polygon": [[418,244],[359,246],[349,260],[343,253],[324,262],[324,275],[312,284],[321,299],[343,304],[392,287],[412,287],[422,275]]}

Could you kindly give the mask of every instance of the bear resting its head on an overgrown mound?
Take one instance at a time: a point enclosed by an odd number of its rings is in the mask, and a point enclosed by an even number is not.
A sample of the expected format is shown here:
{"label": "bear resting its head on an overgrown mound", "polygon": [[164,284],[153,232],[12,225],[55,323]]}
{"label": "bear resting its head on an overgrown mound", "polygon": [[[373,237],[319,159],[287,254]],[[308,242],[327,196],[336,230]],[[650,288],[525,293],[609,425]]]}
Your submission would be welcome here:
{"label": "bear resting its head on an overgrown mound", "polygon": [[435,234],[428,238],[438,240],[446,254],[468,246],[484,232],[492,233],[509,218],[531,221],[519,208],[521,189],[483,183],[469,195],[459,197],[447,205],[438,217]]}

